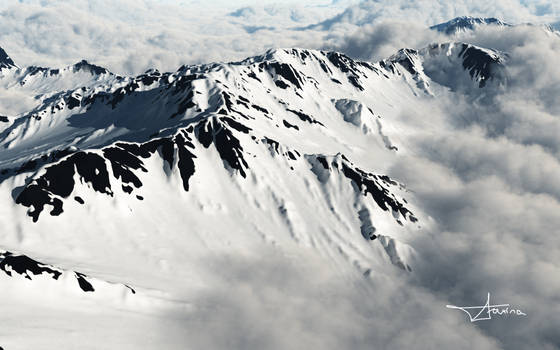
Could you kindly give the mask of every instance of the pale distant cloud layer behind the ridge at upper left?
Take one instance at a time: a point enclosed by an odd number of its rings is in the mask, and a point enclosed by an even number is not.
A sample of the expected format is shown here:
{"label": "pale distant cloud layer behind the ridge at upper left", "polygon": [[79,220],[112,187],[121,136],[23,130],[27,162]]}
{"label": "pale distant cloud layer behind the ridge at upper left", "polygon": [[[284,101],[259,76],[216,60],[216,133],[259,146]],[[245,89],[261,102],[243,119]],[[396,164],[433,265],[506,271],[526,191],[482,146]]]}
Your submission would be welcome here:
{"label": "pale distant cloud layer behind the ridge at upper left", "polygon": [[[342,6],[313,3],[236,10],[152,0],[4,1],[0,46],[21,66],[66,66],[87,59],[121,74],[154,67],[172,71],[182,64],[241,60],[275,46],[308,46],[317,41],[316,33],[289,28],[326,18]],[[268,30],[247,30],[258,27]]]}

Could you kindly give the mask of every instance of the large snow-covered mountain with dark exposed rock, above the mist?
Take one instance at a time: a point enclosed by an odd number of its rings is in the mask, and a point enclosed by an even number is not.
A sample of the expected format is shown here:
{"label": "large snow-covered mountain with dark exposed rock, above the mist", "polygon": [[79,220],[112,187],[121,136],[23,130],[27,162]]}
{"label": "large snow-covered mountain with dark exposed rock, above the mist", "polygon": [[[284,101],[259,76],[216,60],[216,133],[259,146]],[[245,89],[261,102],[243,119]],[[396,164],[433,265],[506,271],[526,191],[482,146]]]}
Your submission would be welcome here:
{"label": "large snow-covered mountain with dark exposed rock, above the mist", "polygon": [[278,49],[123,77],[3,56],[0,86],[30,103],[0,110],[0,279],[123,308],[176,302],[177,280],[196,289],[193,266],[231,251],[413,271],[410,241],[432,223],[387,176],[414,153],[419,126],[402,116],[506,84],[508,59],[459,42],[377,63]]}

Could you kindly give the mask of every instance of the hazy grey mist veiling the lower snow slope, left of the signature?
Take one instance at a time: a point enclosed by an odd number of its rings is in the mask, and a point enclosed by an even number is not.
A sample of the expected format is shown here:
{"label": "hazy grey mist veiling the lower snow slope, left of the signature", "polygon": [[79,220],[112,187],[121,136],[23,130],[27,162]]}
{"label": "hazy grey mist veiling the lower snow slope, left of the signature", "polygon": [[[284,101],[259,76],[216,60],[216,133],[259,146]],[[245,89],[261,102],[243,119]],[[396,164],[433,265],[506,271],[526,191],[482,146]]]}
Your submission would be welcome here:
{"label": "hazy grey mist veiling the lower snow slope, left of the signature", "polygon": [[194,308],[165,318],[181,324],[183,344],[196,348],[500,348],[398,269],[340,275],[314,253],[300,253],[209,258],[207,286],[185,298]]}

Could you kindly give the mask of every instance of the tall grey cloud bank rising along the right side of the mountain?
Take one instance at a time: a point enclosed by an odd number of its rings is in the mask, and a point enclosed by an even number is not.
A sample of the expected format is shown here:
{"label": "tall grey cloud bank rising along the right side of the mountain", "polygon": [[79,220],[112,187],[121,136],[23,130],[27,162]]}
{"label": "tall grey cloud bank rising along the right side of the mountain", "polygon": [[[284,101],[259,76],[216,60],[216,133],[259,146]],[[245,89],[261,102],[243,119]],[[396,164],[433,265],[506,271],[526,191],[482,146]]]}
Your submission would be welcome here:
{"label": "tall grey cloud bank rising along the right side of the mountain", "polygon": [[524,309],[526,318],[478,325],[504,348],[556,349],[560,102],[552,91],[560,39],[520,26],[462,40],[509,53],[507,86],[441,94],[414,112],[429,115],[437,130],[416,135],[419,157],[402,158],[390,173],[438,227],[411,243],[421,257],[413,276],[456,305],[479,305],[490,292],[494,302]]}

